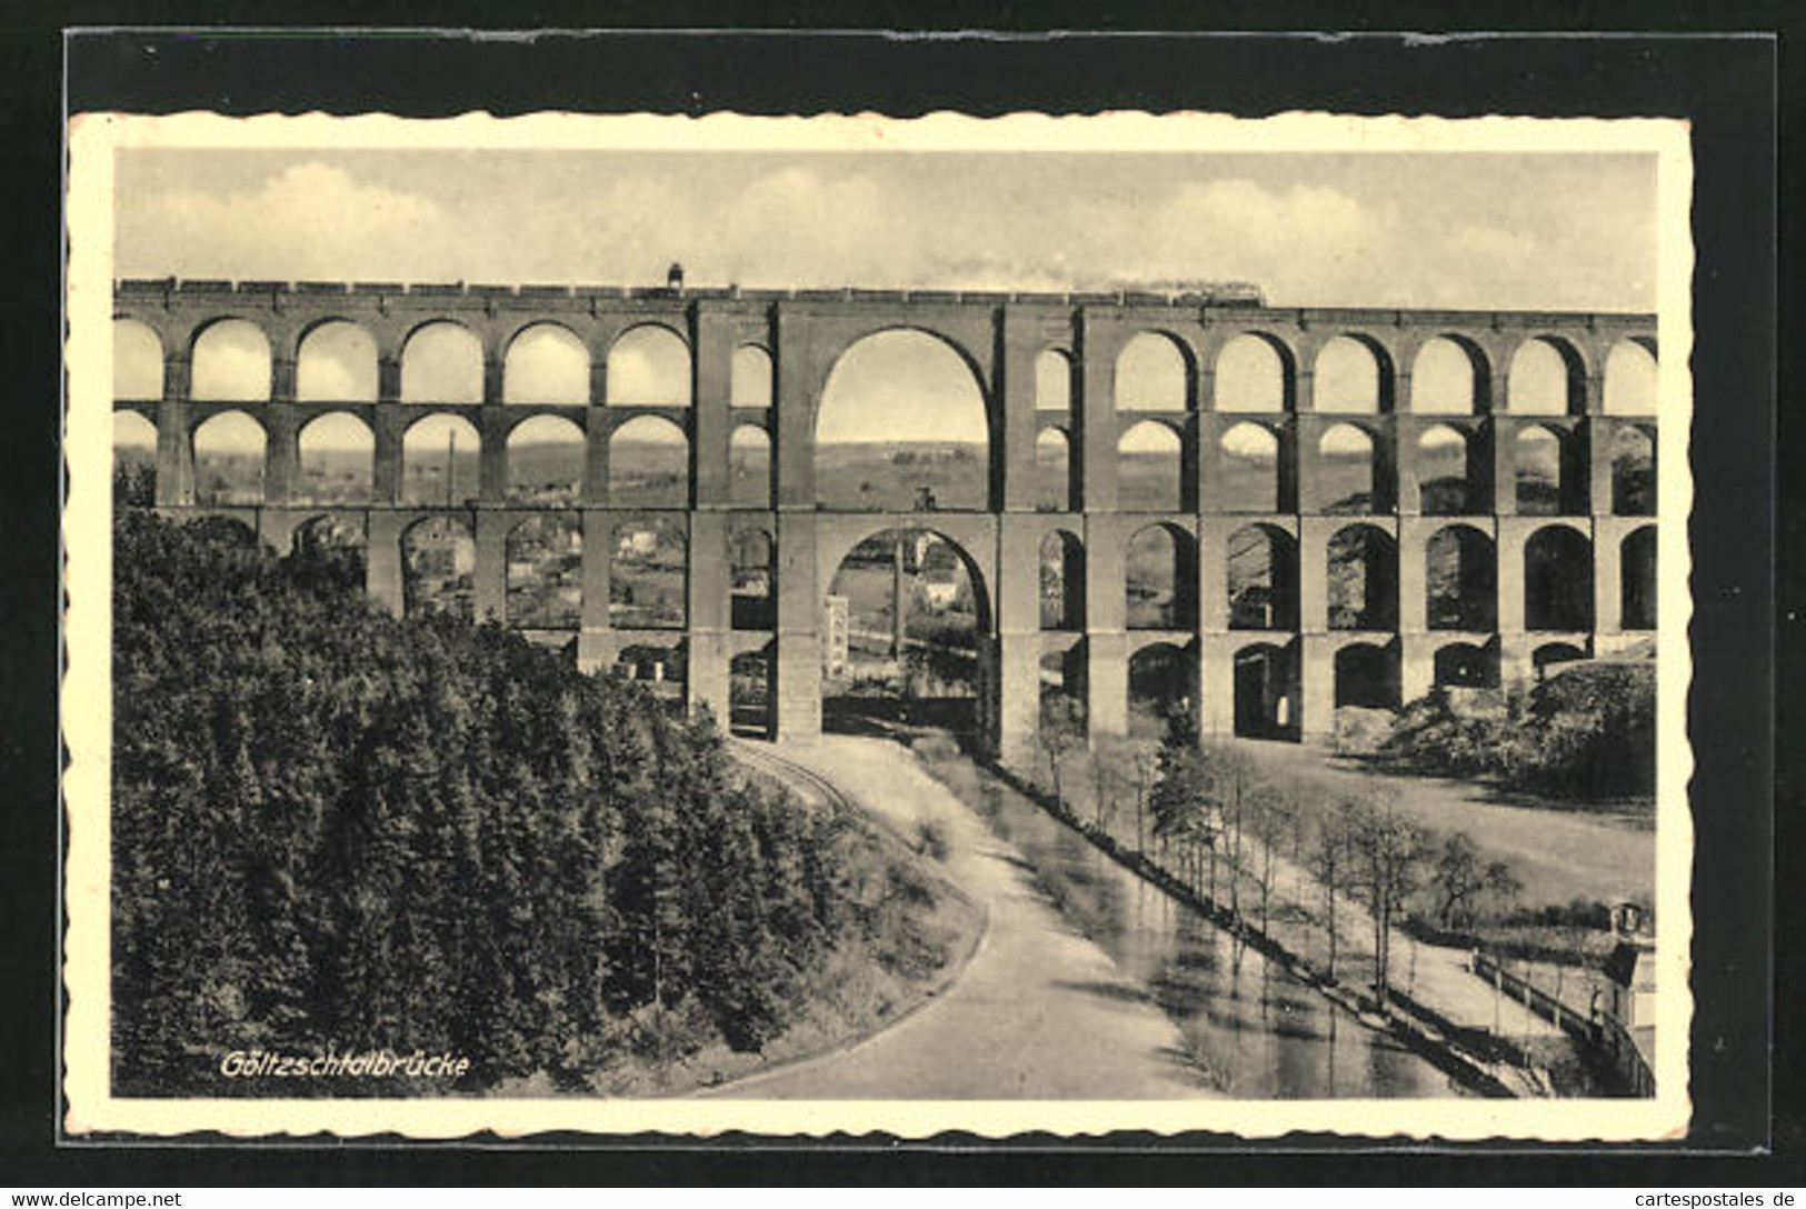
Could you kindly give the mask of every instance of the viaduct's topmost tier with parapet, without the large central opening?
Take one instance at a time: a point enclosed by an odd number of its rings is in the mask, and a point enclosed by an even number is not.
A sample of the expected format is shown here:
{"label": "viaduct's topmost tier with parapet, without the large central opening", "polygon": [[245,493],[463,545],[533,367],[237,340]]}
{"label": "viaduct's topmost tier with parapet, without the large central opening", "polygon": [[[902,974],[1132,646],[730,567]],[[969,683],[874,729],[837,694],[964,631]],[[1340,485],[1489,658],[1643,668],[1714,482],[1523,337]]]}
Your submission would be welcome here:
{"label": "viaduct's topmost tier with parapet, without the large central opening", "polygon": [[[876,330],[908,327],[939,336],[981,370],[993,355],[997,303],[950,296],[914,300],[834,292],[829,310],[796,310],[784,301],[684,303],[679,298],[609,309],[600,300],[580,310],[567,303],[531,305],[526,294],[457,294],[435,310],[437,291],[372,287],[340,296],[267,294],[199,285],[125,283],[116,318],[135,323],[116,341],[116,395],[175,395],[255,402],[307,397],[320,401],[399,399],[406,363],[428,352],[415,341],[450,325],[455,341],[433,341],[450,359],[446,377],[421,368],[412,377],[423,401],[475,402],[623,402],[684,406],[695,401],[697,348],[722,339],[708,368],[731,406],[780,402],[786,359],[778,327],[809,341],[824,366]],[[482,305],[473,305],[484,298]],[[405,300],[394,309],[392,303]],[[816,300],[809,300],[816,303]],[[952,303],[952,305],[948,305]],[[798,309],[804,305],[796,300]],[[820,305],[820,303],[818,303]],[[1201,314],[1179,307],[1098,305],[1035,310],[1029,406],[1069,410],[1085,392],[1103,392],[1122,411],[1333,411],[1333,413],[1645,413],[1656,402],[1654,319],[1649,316],[1262,310],[1215,307]],[[704,321],[704,314],[708,321]],[[1004,325],[1006,330],[1008,323]],[[325,339],[321,328],[336,328]],[[350,332],[361,330],[361,339]],[[719,334],[717,334],[719,332]],[[150,336],[150,339],[144,339]],[[827,345],[824,345],[827,341]],[[453,348],[453,345],[462,345]],[[831,346],[829,346],[831,345]],[[475,355],[473,355],[475,354]],[[435,357],[437,359],[437,357]],[[157,363],[182,363],[188,383],[172,381]],[[1087,361],[1102,361],[1093,374]],[[796,366],[804,390],[820,377]],[[809,401],[813,404],[813,399]]]}

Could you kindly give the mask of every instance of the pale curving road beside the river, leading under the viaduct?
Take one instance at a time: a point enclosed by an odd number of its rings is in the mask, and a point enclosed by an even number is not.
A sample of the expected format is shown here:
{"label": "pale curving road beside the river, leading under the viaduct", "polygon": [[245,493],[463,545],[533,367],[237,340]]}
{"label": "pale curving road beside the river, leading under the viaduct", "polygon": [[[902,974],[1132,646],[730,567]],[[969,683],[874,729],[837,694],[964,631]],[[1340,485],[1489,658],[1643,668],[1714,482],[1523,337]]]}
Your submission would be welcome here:
{"label": "pale curving road beside the river, leading under the viaduct", "polygon": [[847,1050],[712,1095],[748,1099],[1217,1097],[1179,1030],[1035,890],[1028,864],[883,740],[827,736],[777,749],[905,835],[941,819],[945,873],[990,913],[964,974],[934,1003]]}

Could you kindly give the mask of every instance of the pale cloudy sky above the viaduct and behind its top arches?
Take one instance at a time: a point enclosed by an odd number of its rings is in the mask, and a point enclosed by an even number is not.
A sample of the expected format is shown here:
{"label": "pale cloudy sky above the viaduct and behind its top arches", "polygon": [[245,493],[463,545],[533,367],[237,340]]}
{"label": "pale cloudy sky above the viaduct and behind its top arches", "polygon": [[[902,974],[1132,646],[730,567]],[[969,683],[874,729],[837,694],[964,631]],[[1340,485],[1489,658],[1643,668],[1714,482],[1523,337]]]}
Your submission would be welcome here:
{"label": "pale cloudy sky above the viaduct and behind its top arches", "polygon": [[[1631,153],[139,148],[116,162],[116,276],[639,285],[683,262],[692,285],[1235,280],[1280,307],[1652,310],[1654,184]],[[233,374],[262,355],[219,348]],[[314,361],[316,383],[367,372],[352,345]],[[538,361],[527,393],[569,374]],[[867,417],[968,426],[932,355],[872,363],[840,375],[881,393]]]}

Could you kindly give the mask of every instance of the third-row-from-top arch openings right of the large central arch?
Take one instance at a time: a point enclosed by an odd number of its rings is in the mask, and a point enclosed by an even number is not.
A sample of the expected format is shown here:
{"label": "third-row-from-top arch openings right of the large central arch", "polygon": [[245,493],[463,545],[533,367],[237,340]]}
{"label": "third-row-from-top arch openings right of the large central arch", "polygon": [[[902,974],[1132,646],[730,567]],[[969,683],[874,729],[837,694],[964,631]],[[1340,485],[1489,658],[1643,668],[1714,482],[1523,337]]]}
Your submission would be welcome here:
{"label": "third-row-from-top arch openings right of the large central arch", "polygon": [[[1286,531],[1244,525],[1230,534],[1223,592],[1230,630],[1299,628],[1299,549]],[[1566,525],[1524,543],[1524,626],[1586,632],[1593,617],[1593,547]],[[1618,545],[1620,628],[1656,628],[1656,529],[1642,525]],[[1147,525],[1125,552],[1129,630],[1192,630],[1197,623],[1197,550],[1172,525]],[[1499,567],[1494,541],[1472,525],[1445,525],[1425,543],[1423,615],[1429,630],[1485,633],[1497,628]],[[1398,628],[1400,576],[1392,534],[1345,525],[1327,543],[1324,567],[1329,630]],[[1085,628],[1085,554],[1080,540],[1053,531],[1040,547],[1042,630]]]}

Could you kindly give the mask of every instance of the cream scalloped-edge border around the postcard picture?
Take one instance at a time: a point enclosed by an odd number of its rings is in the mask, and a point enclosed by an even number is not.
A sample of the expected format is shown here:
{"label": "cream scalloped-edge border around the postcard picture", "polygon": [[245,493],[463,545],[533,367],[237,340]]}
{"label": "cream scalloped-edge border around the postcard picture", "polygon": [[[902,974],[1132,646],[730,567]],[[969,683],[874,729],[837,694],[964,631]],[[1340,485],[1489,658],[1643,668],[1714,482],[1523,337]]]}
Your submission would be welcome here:
{"label": "cream scalloped-edge border around the postcard picture", "polygon": [[[1658,1095],[1651,1101],[585,1101],[585,1099],[117,1099],[108,1086],[108,769],[112,585],[112,153],[116,148],[563,148],[563,150],[791,150],[791,152],[1642,152],[1658,170]],[[937,112],[749,117],[740,114],[403,119],[386,114],[168,117],[87,114],[69,126],[67,177],[67,399],[63,507],[65,677],[61,689],[67,866],[63,879],[67,1016],[67,1135],[119,1131],[173,1135],[213,1130],[235,1139],[327,1133],[341,1139],[399,1133],[459,1139],[491,1131],[518,1139],[551,1130],[618,1135],[659,1131],[713,1137],[943,1131],[981,1137],[1047,1131],[1067,1139],[1109,1131],[1161,1135],[1205,1130],[1246,1139],[1288,1133],[1344,1137],[1656,1140],[1689,1121],[1687,1048],[1692,1020],[1689,902],[1692,819],[1687,783],[1689,516],[1692,419],[1689,229],[1692,155],[1674,119],[1353,117],[1282,114],[1105,112],[1011,114],[979,119]]]}

